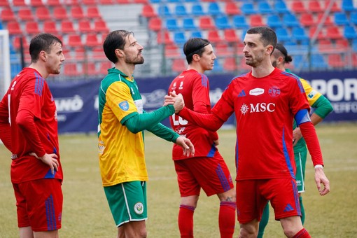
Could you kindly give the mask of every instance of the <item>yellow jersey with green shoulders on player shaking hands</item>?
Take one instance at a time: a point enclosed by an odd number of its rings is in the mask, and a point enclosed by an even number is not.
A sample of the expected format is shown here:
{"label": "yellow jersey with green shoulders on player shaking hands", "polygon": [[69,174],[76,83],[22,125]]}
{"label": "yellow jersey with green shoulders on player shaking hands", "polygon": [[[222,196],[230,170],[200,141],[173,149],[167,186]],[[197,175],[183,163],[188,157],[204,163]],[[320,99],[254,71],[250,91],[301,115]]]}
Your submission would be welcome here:
{"label": "yellow jersey with green shoulders on player shaking hands", "polygon": [[143,113],[137,83],[116,68],[99,88],[98,150],[103,186],[147,181],[143,132],[134,134],[125,121]]}

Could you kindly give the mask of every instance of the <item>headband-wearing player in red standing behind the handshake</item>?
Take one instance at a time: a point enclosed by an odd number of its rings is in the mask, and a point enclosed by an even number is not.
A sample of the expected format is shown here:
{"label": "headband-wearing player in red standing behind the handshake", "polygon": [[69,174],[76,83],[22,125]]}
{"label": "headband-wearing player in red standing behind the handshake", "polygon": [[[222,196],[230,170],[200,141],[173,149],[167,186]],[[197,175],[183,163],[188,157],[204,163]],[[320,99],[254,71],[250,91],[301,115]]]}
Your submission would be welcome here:
{"label": "headband-wearing player in red standing behind the handshake", "polygon": [[[181,94],[188,109],[211,113],[209,80],[204,72],[214,67],[214,49],[206,39],[190,38],[183,45],[183,52],[188,69],[174,78],[169,92]],[[216,148],[217,132],[198,127],[175,114],[170,117],[170,123],[175,132],[195,145],[195,155],[190,157],[183,155],[176,144],[172,149],[181,194],[178,218],[181,237],[193,237],[193,214],[201,188],[207,196],[218,196],[221,201],[218,215],[221,237],[232,237],[235,232],[235,189],[229,169]]]}

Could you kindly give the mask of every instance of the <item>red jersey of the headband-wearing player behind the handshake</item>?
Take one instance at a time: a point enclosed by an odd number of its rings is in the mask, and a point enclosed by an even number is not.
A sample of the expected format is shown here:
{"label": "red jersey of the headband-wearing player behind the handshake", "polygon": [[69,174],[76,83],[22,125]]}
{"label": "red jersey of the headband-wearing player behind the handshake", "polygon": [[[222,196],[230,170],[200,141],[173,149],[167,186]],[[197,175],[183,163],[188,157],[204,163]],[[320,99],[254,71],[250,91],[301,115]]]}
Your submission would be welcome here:
{"label": "red jersey of the headband-wearing player behind the handshake", "polygon": [[[209,80],[203,73],[194,69],[183,71],[169,86],[169,92],[182,94],[185,106],[188,109],[200,113],[211,113],[211,101],[209,99]],[[190,123],[174,114],[170,117],[172,129],[178,134],[187,137],[195,145],[194,157],[213,157],[217,148],[214,141],[218,139],[216,132],[211,132],[202,127]],[[172,149],[173,160],[183,160],[182,148],[174,144]]]}

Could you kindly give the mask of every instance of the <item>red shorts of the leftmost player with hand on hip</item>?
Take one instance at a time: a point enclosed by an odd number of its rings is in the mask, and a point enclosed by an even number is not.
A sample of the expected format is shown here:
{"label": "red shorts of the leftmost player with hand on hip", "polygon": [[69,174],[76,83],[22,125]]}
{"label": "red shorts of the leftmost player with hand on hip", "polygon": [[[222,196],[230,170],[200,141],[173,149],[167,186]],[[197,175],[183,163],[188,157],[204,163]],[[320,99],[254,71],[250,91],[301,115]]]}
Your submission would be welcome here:
{"label": "red shorts of the leftmost player with hand on hip", "polygon": [[63,195],[58,179],[38,179],[13,183],[18,227],[30,226],[34,232],[61,228]]}

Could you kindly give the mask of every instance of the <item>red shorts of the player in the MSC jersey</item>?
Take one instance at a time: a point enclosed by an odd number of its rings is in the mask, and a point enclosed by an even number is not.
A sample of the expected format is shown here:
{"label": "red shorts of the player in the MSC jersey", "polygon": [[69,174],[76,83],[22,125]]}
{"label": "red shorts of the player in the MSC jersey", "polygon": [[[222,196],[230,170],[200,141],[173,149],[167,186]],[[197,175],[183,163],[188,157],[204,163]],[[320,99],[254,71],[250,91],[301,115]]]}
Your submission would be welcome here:
{"label": "red shorts of the player in the MSC jersey", "polygon": [[275,220],[301,216],[295,179],[256,179],[237,181],[237,215],[239,223],[260,221],[270,200]]}

